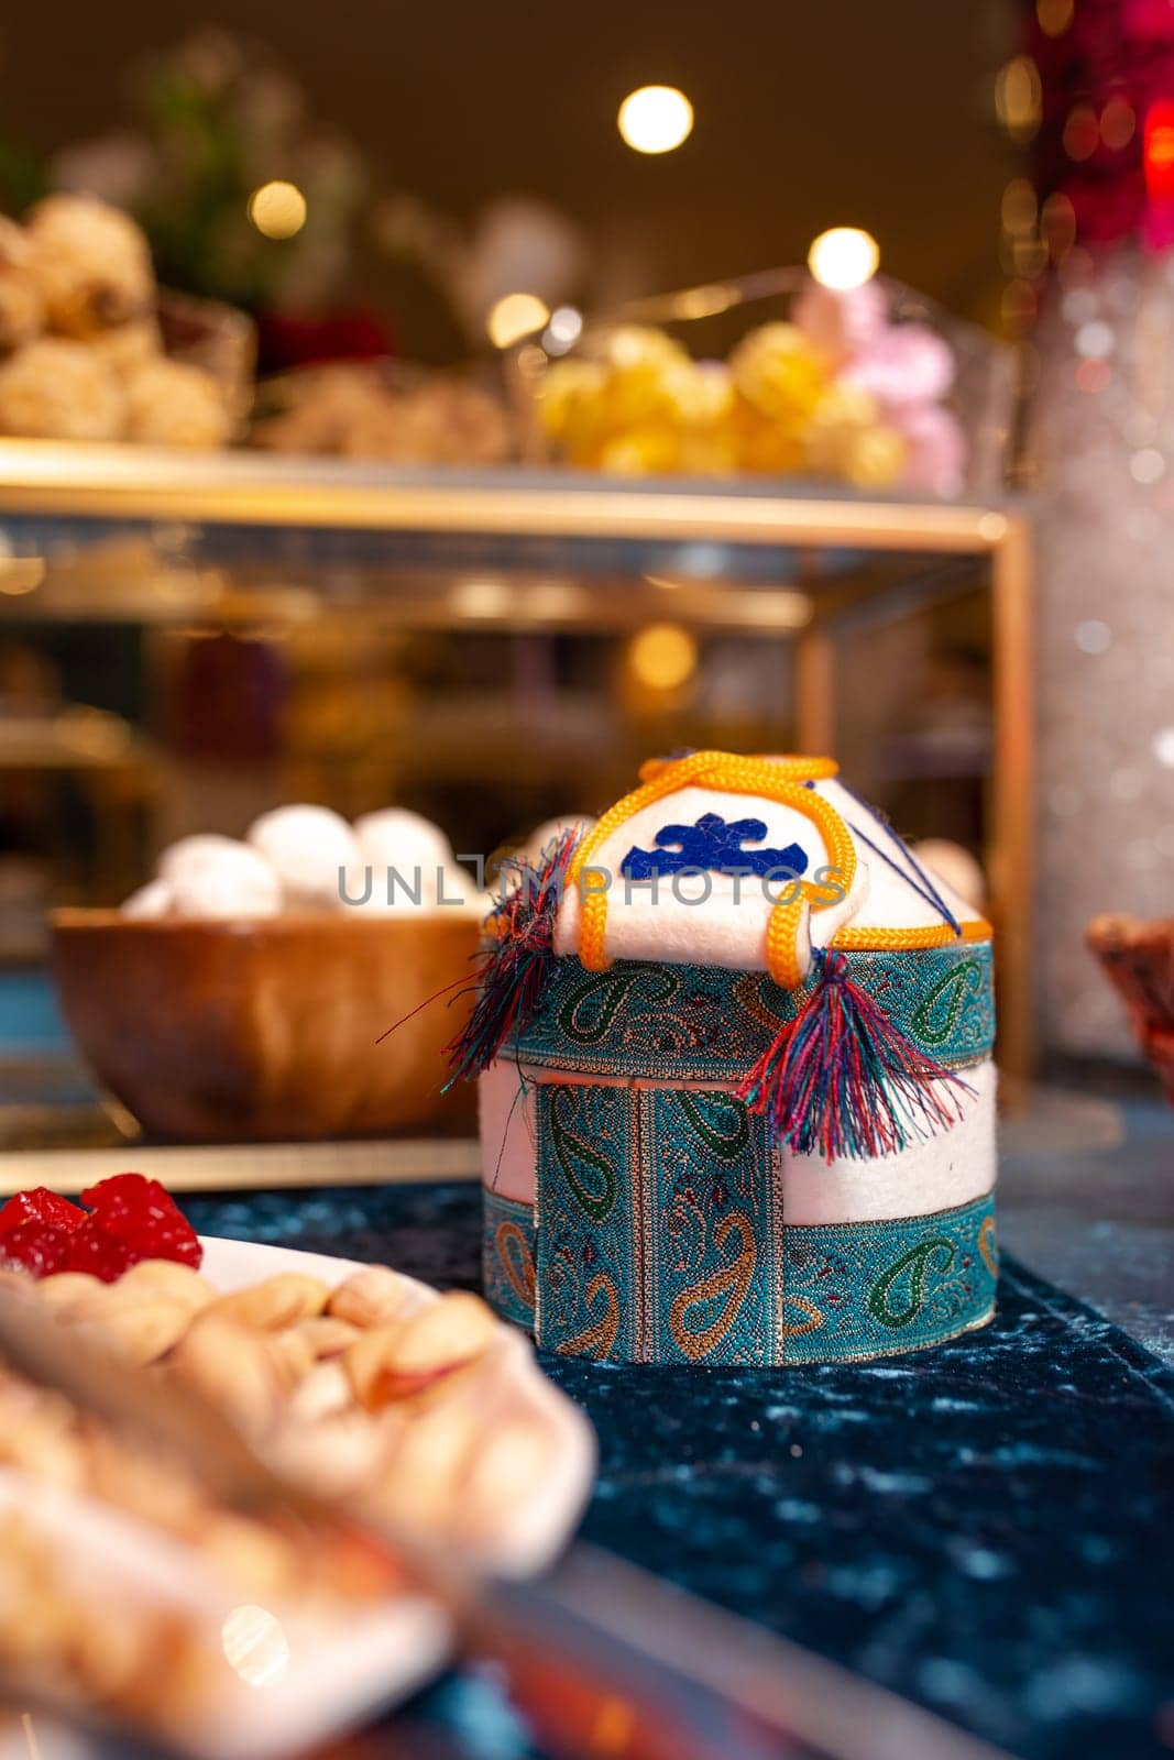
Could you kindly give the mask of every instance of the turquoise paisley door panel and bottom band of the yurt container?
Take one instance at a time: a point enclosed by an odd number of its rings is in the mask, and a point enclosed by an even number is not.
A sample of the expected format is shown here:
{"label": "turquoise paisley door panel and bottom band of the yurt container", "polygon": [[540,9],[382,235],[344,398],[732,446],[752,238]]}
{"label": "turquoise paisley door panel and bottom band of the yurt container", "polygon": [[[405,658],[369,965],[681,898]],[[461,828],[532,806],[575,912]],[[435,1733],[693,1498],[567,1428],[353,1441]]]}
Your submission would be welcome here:
{"label": "turquoise paisley door panel and bottom band of the yurt container", "polygon": [[[762,1119],[720,1093],[542,1084],[539,1343],[611,1362],[852,1362],[991,1318],[994,1200],[783,1223]],[[486,1192],[486,1294],[530,1324],[528,1206]]]}

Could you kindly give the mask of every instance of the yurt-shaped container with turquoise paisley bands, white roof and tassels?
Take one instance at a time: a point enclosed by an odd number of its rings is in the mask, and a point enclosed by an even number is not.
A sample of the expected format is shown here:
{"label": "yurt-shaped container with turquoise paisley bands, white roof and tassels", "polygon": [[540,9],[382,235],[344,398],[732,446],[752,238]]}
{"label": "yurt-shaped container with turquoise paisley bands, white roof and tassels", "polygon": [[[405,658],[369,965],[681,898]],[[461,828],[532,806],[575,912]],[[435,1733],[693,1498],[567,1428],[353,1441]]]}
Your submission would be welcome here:
{"label": "yurt-shaped container with turquoise paisley bands, white roof and tassels", "polygon": [[991,929],[825,759],[695,752],[489,919],[484,1276],[540,1345],[803,1364],[984,1325]]}

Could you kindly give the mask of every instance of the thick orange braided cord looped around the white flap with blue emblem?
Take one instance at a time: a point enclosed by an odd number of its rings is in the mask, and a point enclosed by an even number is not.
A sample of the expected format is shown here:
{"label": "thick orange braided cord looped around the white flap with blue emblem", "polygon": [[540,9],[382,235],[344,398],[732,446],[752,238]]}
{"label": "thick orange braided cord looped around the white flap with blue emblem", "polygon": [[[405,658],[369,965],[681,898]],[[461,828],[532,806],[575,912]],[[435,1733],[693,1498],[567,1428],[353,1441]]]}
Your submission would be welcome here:
{"label": "thick orange braided cord looped around the white flap with blue emblem", "polygon": [[[641,774],[646,774],[649,769],[651,766],[646,764]],[[579,876],[590,864],[595,850],[635,813],[697,783],[699,787],[713,788],[716,794],[759,796],[764,801],[776,801],[781,806],[792,806],[804,818],[810,818],[824,838],[829,864],[838,869],[843,889],[848,892],[855,876],[855,845],[852,843],[852,834],[831,803],[824,801],[813,788],[803,787],[804,780],[833,776],[834,773],[836,766],[831,759],[769,760],[734,757],[729,752],[690,752],[685,759],[658,766],[648,781],[625,796],[623,801],[616,801],[604,813],[574,852],[567,880],[572,885],[579,884]],[[803,901],[810,903],[811,910],[825,910],[833,903],[831,898],[824,896],[824,889],[813,887],[804,880],[799,882],[797,898],[774,905],[767,922],[767,972],[785,989],[796,989],[801,984],[797,933]],[[581,889],[579,959],[588,972],[604,972],[607,968],[605,935],[607,892],[584,892]]]}

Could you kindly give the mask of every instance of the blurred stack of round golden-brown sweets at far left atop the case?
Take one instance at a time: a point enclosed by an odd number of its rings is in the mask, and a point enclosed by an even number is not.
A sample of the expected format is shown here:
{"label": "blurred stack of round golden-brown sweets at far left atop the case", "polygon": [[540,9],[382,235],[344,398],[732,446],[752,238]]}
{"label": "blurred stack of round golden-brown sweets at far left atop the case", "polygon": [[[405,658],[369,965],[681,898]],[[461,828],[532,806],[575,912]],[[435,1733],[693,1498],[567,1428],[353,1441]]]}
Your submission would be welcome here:
{"label": "blurred stack of round golden-brown sweets at far left atop the case", "polygon": [[169,361],[151,253],[136,222],[88,195],[0,216],[0,435],[218,447],[229,401]]}

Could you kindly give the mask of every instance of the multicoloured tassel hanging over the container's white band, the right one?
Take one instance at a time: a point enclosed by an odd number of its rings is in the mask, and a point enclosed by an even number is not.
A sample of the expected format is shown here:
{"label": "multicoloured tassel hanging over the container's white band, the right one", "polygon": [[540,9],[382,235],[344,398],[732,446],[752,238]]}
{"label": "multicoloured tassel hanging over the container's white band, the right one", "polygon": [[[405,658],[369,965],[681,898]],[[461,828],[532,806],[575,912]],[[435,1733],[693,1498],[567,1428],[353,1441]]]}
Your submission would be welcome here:
{"label": "multicoloured tassel hanging over the container's white band, the right one", "polygon": [[854,984],[843,954],[817,952],[818,984],[736,1089],[794,1155],[873,1160],[949,1130],[973,1089],[926,1058]]}

